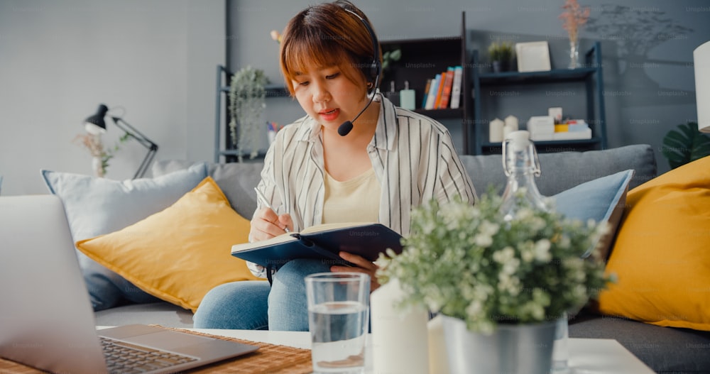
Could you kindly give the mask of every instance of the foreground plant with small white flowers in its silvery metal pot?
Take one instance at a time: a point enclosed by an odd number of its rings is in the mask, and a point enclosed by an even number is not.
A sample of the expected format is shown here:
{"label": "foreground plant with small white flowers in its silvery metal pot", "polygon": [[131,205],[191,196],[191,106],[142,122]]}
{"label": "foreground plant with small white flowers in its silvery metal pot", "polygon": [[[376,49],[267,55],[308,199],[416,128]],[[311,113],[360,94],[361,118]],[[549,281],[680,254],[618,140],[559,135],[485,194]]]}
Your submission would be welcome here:
{"label": "foreground plant with small white flowers in its silvery metal pot", "polygon": [[[378,259],[378,281],[397,279],[402,287],[399,307],[443,314],[447,354],[461,365],[486,362],[491,373],[539,369],[547,374],[557,319],[583,306],[610,280],[595,251],[581,257],[599,243],[606,224],[534,209],[523,194],[514,197],[523,209],[511,221],[503,219],[503,199],[493,190],[473,207],[460,199],[424,204],[413,211],[404,251]],[[535,337],[539,346],[494,348],[503,340],[519,346],[524,339],[515,336],[535,331],[549,341]],[[539,368],[515,366],[524,362],[521,354],[539,355]]]}

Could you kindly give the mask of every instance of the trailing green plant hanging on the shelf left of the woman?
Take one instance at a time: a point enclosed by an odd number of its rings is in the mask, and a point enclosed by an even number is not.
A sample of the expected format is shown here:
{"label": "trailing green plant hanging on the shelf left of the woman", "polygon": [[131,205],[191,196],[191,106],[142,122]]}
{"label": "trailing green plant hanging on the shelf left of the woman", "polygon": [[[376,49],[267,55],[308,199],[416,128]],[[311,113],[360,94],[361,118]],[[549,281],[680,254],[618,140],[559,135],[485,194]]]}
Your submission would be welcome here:
{"label": "trailing green plant hanging on the shelf left of the woman", "polygon": [[263,70],[251,66],[241,68],[231,77],[229,135],[240,161],[246,149],[250,149],[249,158],[258,154],[264,123],[261,114],[266,107],[266,84],[268,78]]}

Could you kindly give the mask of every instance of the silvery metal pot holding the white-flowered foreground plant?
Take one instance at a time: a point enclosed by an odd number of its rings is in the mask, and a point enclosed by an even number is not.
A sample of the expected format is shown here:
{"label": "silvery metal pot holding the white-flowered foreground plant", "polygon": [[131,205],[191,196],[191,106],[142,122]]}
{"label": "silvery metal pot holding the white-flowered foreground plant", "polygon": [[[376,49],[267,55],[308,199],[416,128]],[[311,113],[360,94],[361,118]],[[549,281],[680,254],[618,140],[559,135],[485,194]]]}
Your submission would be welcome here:
{"label": "silvery metal pot holding the white-flowered foreground plant", "polygon": [[452,374],[550,374],[557,321],[498,324],[491,335],[468,331],[461,319],[442,316]]}

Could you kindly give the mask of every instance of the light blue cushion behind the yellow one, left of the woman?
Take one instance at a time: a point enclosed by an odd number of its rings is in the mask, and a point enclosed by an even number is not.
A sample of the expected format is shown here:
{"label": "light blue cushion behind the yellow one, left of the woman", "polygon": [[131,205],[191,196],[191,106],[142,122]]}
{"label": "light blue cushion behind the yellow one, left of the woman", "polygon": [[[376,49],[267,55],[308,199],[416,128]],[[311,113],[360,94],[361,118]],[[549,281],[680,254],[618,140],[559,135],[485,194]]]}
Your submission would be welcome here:
{"label": "light blue cushion behind the yellow one, left of the woman", "polygon": [[[75,242],[124,229],[170,207],[205,177],[201,163],[155,178],[109,180],[42,170],[52,194],[60,197]],[[114,307],[122,298],[131,302],[156,299],[77,251],[94,310]]]}

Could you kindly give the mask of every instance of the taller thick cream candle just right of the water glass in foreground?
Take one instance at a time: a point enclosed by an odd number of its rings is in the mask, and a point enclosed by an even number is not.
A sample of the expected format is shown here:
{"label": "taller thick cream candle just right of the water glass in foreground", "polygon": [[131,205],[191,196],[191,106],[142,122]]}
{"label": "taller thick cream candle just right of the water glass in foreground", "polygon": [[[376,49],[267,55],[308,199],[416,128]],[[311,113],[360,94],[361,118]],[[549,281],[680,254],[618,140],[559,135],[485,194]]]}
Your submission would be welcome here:
{"label": "taller thick cream candle just right of the water glass in foreground", "polygon": [[398,280],[390,280],[370,295],[374,374],[416,374],[429,369],[429,313],[395,308],[402,296]]}

